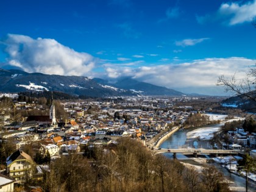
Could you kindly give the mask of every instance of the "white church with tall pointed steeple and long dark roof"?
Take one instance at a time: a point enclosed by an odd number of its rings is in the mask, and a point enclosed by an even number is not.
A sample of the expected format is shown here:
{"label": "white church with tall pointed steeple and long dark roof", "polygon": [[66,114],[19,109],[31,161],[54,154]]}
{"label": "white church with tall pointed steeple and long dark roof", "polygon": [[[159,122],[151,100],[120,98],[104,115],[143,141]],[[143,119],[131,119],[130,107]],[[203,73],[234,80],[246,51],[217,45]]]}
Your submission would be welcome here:
{"label": "white church with tall pointed steeple and long dark roof", "polygon": [[52,96],[51,99],[51,107],[49,108],[49,116],[48,115],[31,115],[26,119],[26,123],[28,122],[37,122],[39,125],[43,125],[44,127],[57,127],[57,119],[55,117],[55,107],[54,107],[54,99]]}

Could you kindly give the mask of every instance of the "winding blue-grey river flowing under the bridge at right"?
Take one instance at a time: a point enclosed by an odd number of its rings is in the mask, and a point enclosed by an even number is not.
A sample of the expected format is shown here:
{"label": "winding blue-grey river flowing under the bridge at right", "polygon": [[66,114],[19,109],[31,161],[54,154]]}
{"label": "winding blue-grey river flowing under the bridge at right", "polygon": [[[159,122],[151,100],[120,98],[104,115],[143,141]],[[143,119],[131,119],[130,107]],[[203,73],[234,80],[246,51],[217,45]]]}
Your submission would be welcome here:
{"label": "winding blue-grey river flowing under the bridge at right", "polygon": [[[193,130],[196,130],[195,132],[197,132],[197,130],[198,130],[198,132],[200,130],[207,130],[207,129],[213,130],[213,129],[220,127],[221,125],[222,124],[216,124],[216,125],[212,125],[212,126],[202,126],[202,127],[191,128],[191,129],[178,130],[177,132],[172,134],[167,140],[165,140],[161,144],[160,148],[181,148],[181,147],[201,148],[201,146],[203,148],[211,148],[211,145],[208,140],[194,142],[196,139],[194,139],[194,138],[188,139],[187,133],[191,132]],[[171,153],[166,153],[165,156],[169,157],[169,158],[173,158]],[[200,157],[206,158],[203,155],[201,155]],[[199,165],[199,166],[205,165],[205,163],[198,163],[197,161],[194,161],[193,158],[187,157],[183,154],[177,154],[177,159],[180,160],[180,162],[190,163],[192,165]],[[230,175],[229,171],[227,171],[227,169],[225,169],[225,168],[222,168],[222,166],[220,166],[218,163],[213,163],[212,165],[215,165],[216,168],[218,168],[219,171],[221,171],[224,174],[224,176],[226,176],[227,180],[229,180],[229,182],[231,183],[233,191],[245,191],[246,181],[245,181],[244,177],[239,177],[239,176],[236,176],[235,174]],[[249,181],[248,191],[256,191],[255,189],[256,189],[256,183]]]}

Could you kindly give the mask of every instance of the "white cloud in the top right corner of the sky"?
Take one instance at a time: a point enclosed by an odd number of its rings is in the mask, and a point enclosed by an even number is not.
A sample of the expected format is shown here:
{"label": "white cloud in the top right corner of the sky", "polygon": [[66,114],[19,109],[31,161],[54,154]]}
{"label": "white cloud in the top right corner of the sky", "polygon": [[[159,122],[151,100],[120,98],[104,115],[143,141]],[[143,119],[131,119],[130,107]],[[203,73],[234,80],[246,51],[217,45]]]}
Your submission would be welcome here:
{"label": "white cloud in the top right corner of the sky", "polygon": [[221,5],[219,16],[227,19],[230,25],[252,21],[256,16],[256,0],[247,1],[244,4],[229,2]]}

